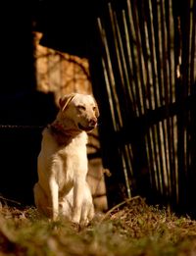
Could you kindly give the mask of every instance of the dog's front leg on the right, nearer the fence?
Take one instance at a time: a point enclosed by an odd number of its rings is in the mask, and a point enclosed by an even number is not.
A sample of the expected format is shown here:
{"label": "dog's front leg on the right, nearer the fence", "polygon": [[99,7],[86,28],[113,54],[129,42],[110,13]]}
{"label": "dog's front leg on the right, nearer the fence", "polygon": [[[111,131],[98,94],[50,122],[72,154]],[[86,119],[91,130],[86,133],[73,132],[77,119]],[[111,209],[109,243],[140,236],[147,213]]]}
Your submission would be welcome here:
{"label": "dog's front leg on the right, nearer the fence", "polygon": [[85,180],[76,179],[73,184],[73,223],[79,223]]}

